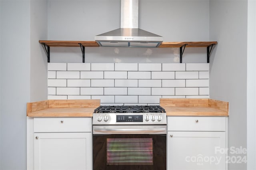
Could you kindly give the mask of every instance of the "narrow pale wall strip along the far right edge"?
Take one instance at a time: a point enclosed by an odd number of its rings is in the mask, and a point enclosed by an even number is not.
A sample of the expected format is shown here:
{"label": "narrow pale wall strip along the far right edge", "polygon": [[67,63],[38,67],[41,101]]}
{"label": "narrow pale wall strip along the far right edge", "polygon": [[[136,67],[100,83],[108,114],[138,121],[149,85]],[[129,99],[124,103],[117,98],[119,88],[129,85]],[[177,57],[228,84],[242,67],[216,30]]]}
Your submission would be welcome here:
{"label": "narrow pale wall strip along the far right edge", "polygon": [[247,169],[256,169],[256,1],[248,1],[247,47]]}

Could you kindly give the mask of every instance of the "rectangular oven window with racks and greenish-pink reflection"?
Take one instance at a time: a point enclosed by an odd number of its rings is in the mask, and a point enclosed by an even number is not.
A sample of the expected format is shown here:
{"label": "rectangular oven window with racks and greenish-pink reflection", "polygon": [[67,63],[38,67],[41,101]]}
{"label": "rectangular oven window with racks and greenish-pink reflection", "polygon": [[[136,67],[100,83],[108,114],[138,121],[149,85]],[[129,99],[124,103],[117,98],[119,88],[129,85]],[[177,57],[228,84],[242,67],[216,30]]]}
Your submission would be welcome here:
{"label": "rectangular oven window with racks and greenish-pink reflection", "polygon": [[153,165],[153,138],[107,138],[107,165]]}

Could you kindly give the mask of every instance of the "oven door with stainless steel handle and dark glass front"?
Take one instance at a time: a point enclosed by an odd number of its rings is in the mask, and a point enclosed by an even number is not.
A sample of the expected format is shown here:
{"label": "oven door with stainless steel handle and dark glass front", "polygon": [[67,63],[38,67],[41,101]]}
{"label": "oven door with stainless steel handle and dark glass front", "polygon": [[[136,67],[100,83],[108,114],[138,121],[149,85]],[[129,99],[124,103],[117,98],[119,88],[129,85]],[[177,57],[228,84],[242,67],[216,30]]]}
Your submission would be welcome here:
{"label": "oven door with stainless steel handle and dark glass front", "polygon": [[166,170],[166,125],[93,126],[94,170]]}

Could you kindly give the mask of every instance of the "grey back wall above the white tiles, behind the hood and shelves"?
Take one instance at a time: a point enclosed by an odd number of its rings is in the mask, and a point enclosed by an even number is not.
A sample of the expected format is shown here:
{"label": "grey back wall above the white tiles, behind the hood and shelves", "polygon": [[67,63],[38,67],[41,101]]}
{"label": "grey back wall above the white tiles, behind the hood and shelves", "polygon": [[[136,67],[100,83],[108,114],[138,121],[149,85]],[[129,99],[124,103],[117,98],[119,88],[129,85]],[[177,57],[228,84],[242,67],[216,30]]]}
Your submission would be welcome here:
{"label": "grey back wall above the white tiles, behind the hood and shelves", "polygon": [[[48,40],[94,40],[120,28],[120,0],[50,0]],[[139,28],[163,36],[164,42],[208,41],[209,0],[140,0]],[[178,48],[86,47],[86,63],[174,63]],[[179,60],[178,60],[179,61]],[[205,63],[206,48],[186,48],[184,63]],[[80,47],[51,47],[51,62],[80,63]]]}

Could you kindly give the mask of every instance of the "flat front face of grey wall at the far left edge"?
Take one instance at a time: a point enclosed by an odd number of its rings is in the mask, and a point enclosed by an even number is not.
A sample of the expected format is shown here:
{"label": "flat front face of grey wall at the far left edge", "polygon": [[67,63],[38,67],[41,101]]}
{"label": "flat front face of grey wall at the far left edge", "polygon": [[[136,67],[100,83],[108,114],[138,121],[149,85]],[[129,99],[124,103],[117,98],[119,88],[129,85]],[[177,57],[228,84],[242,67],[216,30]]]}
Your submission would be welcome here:
{"label": "flat front face of grey wall at the far left edge", "polygon": [[1,167],[26,169],[30,101],[30,2],[1,1]]}

